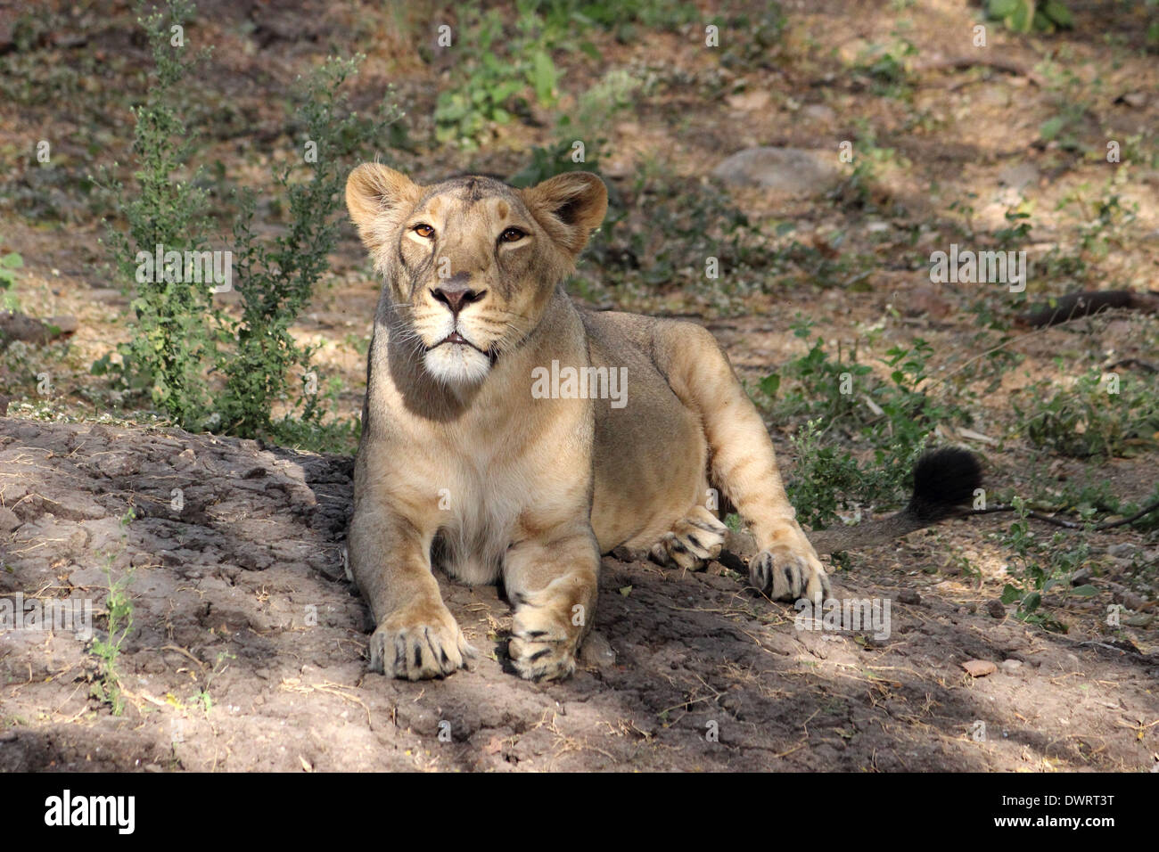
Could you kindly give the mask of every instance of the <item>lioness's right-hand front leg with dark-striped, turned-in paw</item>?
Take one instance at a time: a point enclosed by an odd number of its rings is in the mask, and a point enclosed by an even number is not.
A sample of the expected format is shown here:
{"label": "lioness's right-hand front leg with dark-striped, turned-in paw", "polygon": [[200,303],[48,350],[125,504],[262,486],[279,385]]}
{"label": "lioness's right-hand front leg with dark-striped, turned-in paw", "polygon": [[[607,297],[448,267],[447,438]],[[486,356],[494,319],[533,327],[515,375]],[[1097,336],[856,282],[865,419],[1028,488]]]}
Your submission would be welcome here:
{"label": "lioness's right-hand front leg with dark-striped, turned-in paw", "polygon": [[591,527],[568,524],[515,544],[503,583],[515,605],[508,653],[529,679],[567,677],[596,614],[599,548]]}

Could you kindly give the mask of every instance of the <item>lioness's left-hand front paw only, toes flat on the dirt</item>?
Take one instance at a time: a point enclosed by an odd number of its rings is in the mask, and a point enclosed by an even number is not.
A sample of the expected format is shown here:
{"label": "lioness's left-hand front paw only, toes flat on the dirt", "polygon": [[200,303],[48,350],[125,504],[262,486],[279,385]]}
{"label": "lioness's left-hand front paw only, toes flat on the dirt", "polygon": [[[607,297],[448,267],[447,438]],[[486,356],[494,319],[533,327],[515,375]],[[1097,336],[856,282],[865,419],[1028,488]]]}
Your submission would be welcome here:
{"label": "lioness's left-hand front paw only, toes flat on the dirt", "polygon": [[370,638],[371,671],[409,680],[450,675],[474,653],[442,602],[393,612]]}

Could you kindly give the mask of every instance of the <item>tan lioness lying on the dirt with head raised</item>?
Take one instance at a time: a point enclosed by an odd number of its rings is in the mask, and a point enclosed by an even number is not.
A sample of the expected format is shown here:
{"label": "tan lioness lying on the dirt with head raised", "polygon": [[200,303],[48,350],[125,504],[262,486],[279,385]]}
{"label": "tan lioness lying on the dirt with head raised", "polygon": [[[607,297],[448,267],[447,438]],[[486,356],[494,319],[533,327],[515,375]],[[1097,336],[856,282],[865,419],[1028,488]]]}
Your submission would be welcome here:
{"label": "tan lioness lying on the dirt with head raised", "polygon": [[[473,653],[433,559],[467,583],[502,577],[515,669],[566,677],[592,624],[600,554],[650,549],[683,567],[716,556],[728,532],[708,508],[716,493],[756,541],[753,587],[828,597],[765,425],[713,336],[582,310],[563,292],[607,210],[599,177],[422,187],[365,163],[347,206],[385,278],[348,539],[377,625],[373,670],[437,677]],[[625,380],[618,399],[608,377]]]}

